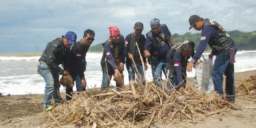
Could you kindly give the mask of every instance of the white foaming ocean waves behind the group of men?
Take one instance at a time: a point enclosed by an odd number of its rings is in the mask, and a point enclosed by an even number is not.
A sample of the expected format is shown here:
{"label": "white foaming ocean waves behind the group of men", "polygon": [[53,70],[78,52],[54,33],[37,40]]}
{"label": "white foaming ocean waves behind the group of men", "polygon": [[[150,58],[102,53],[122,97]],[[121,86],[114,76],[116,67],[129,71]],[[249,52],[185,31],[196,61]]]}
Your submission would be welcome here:
{"label": "white foaming ocean waves behind the group of men", "polygon": [[[208,58],[210,52],[204,52],[203,56]],[[44,94],[45,82],[41,75],[37,74],[38,59],[42,53],[0,53],[0,93],[4,95],[19,94]],[[244,72],[256,69],[256,51],[238,51],[235,72]],[[102,71],[100,60],[102,52],[88,52],[86,55],[87,67],[84,72],[87,87],[101,87]],[[203,58],[201,57],[201,60]],[[214,60],[214,59],[213,59]],[[188,77],[195,76],[195,69],[187,73]],[[60,76],[61,78],[61,76]],[[151,67],[148,64],[146,71],[147,81],[153,79]],[[163,75],[163,79],[164,75]],[[113,78],[110,82],[115,86]],[[129,84],[128,72],[124,69],[124,83]],[[76,88],[74,87],[74,90]],[[65,91],[61,86],[60,91]]]}

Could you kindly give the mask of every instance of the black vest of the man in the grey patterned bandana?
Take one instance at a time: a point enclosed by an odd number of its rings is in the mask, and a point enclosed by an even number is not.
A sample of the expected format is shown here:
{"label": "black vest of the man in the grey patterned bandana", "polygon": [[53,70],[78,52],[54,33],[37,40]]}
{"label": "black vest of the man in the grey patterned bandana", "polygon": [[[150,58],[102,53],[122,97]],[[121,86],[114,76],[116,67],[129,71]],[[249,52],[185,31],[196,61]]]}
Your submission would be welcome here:
{"label": "black vest of the man in the grey patterned bandana", "polygon": [[[170,38],[170,31],[168,29],[168,27],[165,24],[162,24],[161,29],[163,31],[163,34],[165,34],[165,43],[169,46],[169,48],[171,47],[169,38]],[[159,42],[156,41],[155,38],[153,38],[152,35],[152,30],[150,30],[147,34],[147,37],[150,38],[150,41],[152,42],[152,46],[151,46],[151,52],[150,52],[150,60],[148,59],[149,64],[152,64],[152,67],[155,67],[155,63],[157,63],[157,59],[158,59],[158,54],[159,54]]]}

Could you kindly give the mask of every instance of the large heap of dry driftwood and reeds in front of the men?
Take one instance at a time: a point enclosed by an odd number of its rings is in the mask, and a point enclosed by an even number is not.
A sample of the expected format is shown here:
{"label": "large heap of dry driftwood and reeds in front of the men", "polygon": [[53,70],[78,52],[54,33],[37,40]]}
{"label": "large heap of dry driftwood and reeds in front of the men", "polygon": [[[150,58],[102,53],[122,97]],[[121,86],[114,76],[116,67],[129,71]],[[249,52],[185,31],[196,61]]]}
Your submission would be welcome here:
{"label": "large heap of dry driftwood and reeds in front of the men", "polygon": [[229,109],[239,109],[221,100],[216,93],[202,94],[193,85],[184,91],[166,90],[153,82],[130,82],[126,89],[91,89],[73,95],[73,99],[45,114],[50,126],[87,126],[93,128],[150,127],[151,124],[184,126]]}

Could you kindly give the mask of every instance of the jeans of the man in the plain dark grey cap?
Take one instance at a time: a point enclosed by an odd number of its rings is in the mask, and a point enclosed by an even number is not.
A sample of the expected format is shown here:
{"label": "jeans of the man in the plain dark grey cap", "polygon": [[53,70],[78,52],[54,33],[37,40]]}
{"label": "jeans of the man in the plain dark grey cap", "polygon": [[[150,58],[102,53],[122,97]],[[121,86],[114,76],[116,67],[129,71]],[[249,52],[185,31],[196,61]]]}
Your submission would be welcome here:
{"label": "jeans of the man in the plain dark grey cap", "polygon": [[[134,66],[134,64],[126,63],[126,69],[129,74],[129,81],[131,81],[131,80],[135,81],[135,70],[134,70],[133,66]],[[142,80],[144,80],[144,72],[143,72],[142,64],[136,64],[136,66],[138,68],[138,71],[139,71],[139,74],[140,74]]]}

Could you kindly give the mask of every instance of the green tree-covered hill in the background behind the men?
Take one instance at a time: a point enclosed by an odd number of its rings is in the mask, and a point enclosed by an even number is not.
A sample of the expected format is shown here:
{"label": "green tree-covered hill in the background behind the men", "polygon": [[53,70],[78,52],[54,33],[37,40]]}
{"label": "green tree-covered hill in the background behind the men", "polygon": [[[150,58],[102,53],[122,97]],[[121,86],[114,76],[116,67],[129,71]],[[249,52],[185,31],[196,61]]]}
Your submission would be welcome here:
{"label": "green tree-covered hill in the background behind the men", "polygon": [[[252,32],[242,32],[239,30],[234,31],[228,31],[230,37],[236,42],[236,45],[238,47],[238,50],[256,50],[256,31]],[[183,40],[192,40],[195,42],[195,48],[197,48],[201,33],[185,33],[184,35],[179,35],[177,33],[174,33],[172,35],[173,41],[176,44],[177,42],[183,41]],[[102,51],[102,43],[97,44],[90,47],[90,51]],[[207,46],[206,50],[211,50],[209,46]]]}

